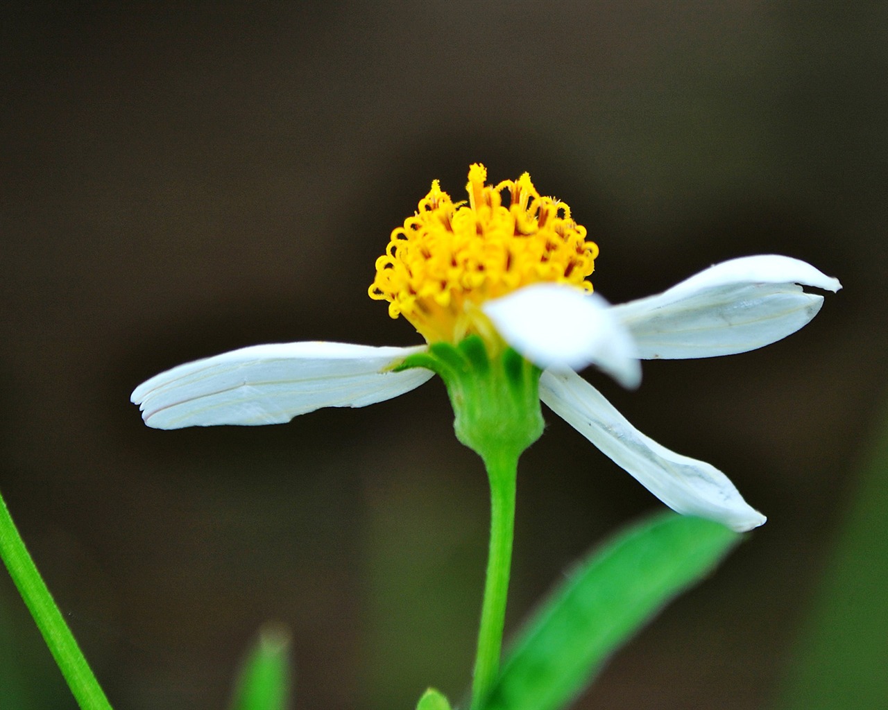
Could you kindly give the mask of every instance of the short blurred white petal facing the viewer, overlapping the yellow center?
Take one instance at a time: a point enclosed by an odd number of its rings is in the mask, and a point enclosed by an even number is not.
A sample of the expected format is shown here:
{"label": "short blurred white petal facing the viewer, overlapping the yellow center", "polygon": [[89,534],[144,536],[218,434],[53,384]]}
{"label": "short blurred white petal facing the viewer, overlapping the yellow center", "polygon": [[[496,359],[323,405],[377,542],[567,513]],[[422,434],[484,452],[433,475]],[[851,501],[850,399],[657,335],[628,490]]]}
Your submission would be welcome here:
{"label": "short blurred white petal facing the viewer, overlapping the yellow center", "polygon": [[539,367],[594,364],[624,387],[641,381],[635,344],[601,296],[538,283],[488,301],[482,310],[503,339]]}

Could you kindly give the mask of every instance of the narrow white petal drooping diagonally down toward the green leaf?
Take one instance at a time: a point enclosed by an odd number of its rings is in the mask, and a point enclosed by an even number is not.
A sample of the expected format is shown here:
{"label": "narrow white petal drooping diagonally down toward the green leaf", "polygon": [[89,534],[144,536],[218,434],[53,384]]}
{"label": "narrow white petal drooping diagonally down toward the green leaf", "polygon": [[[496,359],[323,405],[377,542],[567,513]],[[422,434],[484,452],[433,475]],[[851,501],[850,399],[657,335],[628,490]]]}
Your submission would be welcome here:
{"label": "narrow white petal drooping diagonally down toward the green leaf", "polygon": [[544,372],[540,398],[671,509],[737,531],[765,522],[724,473],[647,438],[579,375]]}

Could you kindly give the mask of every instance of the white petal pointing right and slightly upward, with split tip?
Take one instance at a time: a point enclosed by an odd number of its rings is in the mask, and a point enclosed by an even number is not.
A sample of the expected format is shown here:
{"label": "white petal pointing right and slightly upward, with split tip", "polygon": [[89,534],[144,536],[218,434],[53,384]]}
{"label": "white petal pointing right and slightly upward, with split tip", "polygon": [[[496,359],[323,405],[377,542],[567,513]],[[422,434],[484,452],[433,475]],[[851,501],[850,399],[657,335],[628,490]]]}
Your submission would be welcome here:
{"label": "white petal pointing right and slightly upward, with split tip", "polygon": [[614,306],[643,359],[711,358],[755,350],[795,333],[823,296],[798,286],[842,285],[789,256],[745,256],[716,264],[657,296]]}

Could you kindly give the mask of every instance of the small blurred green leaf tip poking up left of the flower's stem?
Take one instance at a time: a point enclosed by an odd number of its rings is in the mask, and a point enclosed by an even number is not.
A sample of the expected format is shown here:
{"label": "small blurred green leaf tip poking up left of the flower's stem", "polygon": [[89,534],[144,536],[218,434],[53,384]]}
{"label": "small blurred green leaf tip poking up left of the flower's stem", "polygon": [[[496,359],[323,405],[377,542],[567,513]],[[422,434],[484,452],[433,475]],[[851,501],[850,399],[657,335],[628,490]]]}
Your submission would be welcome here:
{"label": "small blurred green leaf tip poking up left of the flower's stem", "polygon": [[289,634],[268,625],[247,657],[234,686],[232,710],[285,710],[290,692]]}

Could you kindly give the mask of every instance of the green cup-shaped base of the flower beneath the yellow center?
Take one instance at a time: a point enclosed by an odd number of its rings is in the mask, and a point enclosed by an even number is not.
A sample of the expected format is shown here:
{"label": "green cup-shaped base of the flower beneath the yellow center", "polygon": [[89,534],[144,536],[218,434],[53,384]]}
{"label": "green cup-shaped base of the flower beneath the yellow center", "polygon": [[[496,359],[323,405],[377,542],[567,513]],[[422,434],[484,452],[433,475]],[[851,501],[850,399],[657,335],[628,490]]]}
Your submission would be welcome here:
{"label": "green cup-shaped base of the flower beneath the yellow center", "polygon": [[456,345],[432,343],[397,369],[409,367],[440,375],[453,406],[456,438],[485,461],[517,461],[543,433],[542,371],[510,347],[469,335]]}

